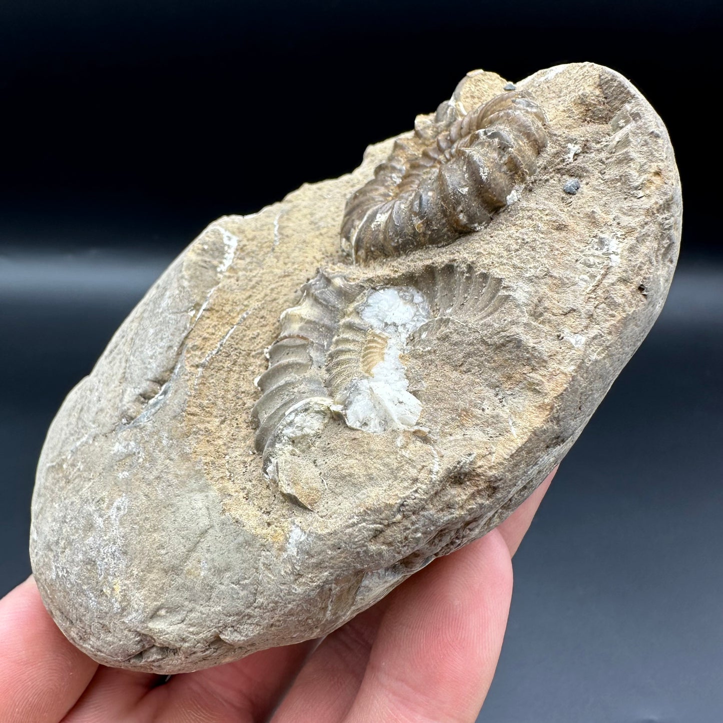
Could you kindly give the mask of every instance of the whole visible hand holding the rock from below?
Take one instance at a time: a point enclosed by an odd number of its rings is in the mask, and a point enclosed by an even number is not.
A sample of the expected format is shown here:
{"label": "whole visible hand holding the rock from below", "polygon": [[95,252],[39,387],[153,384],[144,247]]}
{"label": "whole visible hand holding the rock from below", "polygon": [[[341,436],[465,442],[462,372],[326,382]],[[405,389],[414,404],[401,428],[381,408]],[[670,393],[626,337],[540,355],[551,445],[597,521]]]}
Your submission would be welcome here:
{"label": "whole visible hand holding the rock from below", "polygon": [[0,600],[0,721],[474,722],[500,656],[511,560],[554,475],[500,526],[321,643],[260,651],[166,683],[75,648],[28,578]]}

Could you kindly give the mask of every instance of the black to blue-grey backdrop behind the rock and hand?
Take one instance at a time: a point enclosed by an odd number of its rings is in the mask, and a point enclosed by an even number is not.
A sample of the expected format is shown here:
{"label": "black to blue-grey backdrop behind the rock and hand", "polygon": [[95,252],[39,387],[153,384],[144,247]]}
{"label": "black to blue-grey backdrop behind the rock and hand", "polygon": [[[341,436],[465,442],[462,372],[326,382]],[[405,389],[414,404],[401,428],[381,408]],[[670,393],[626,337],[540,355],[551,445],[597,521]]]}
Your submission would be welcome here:
{"label": "black to blue-grey backdrop behind the rock and hand", "polygon": [[470,69],[622,72],[683,179],[669,303],[515,558],[480,720],[723,720],[717,1],[0,4],[0,594],[64,395],[213,218],[338,176]]}

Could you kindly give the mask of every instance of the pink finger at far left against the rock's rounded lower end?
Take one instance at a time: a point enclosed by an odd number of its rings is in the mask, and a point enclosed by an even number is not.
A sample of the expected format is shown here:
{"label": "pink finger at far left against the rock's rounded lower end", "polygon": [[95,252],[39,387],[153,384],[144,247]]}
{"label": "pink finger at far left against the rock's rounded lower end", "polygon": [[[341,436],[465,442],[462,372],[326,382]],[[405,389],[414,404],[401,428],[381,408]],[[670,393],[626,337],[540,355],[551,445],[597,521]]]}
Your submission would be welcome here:
{"label": "pink finger at far left against the rock's rounded lower end", "polygon": [[28,578],[0,600],[0,721],[58,723],[98,663],[60,632]]}

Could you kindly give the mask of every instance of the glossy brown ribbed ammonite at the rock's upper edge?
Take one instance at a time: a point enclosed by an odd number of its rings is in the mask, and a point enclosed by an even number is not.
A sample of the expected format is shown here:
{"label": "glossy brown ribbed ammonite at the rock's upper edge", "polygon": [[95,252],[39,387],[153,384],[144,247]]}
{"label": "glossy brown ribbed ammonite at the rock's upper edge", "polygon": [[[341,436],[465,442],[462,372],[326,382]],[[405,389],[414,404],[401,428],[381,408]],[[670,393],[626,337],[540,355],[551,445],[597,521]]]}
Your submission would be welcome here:
{"label": "glossy brown ribbed ammonite at the rock's upper edge", "polygon": [[348,200],[342,247],[360,262],[482,228],[536,172],[547,145],[542,108],[508,92],[461,118],[443,103],[431,128],[395,142],[375,177]]}

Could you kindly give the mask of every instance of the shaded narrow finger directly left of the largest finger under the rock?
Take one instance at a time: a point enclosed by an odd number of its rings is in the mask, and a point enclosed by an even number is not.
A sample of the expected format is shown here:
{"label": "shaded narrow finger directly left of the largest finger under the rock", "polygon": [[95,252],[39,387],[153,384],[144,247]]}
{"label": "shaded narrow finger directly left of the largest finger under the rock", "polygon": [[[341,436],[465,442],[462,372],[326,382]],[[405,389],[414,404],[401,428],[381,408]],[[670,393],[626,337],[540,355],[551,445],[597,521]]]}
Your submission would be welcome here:
{"label": "shaded narrow finger directly left of the largest finger under the rock", "polygon": [[367,668],[386,598],[330,633],[294,680],[273,723],[336,722],[354,702]]}

